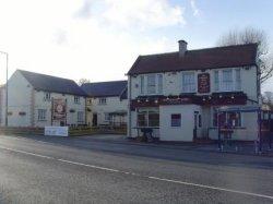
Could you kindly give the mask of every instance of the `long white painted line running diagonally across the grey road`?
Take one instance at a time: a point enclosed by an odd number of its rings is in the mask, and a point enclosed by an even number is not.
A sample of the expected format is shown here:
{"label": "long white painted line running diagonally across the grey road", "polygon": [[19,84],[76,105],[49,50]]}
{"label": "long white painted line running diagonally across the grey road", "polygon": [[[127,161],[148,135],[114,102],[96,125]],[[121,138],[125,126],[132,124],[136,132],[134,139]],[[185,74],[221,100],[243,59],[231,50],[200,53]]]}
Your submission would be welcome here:
{"label": "long white painted line running diagonally across the grey road", "polygon": [[164,179],[164,178],[159,178],[159,177],[143,176],[143,175],[139,175],[135,172],[122,171],[122,170],[118,170],[118,169],[106,168],[106,167],[100,167],[100,166],[95,166],[95,165],[88,165],[88,164],[78,163],[78,161],[72,161],[72,160],[66,160],[66,159],[61,159],[61,158],[54,158],[50,156],[39,155],[36,153],[31,153],[31,152],[25,152],[25,151],[19,151],[19,149],[14,149],[14,148],[8,148],[8,147],[3,147],[3,146],[0,146],[0,148],[5,149],[5,151],[15,152],[15,153],[41,157],[41,158],[46,158],[46,159],[54,159],[54,160],[58,160],[60,163],[67,163],[67,164],[71,164],[71,165],[78,165],[78,166],[84,166],[84,167],[88,167],[88,168],[93,168],[93,169],[99,169],[99,170],[109,171],[109,172],[119,172],[119,173],[130,175],[130,176],[134,176],[134,177],[142,177],[142,178],[147,178],[147,179],[157,180],[157,181],[178,183],[178,184],[182,184],[182,185],[197,187],[197,188],[202,188],[202,189],[210,189],[210,190],[224,191],[224,192],[229,192],[229,193],[237,193],[237,194],[244,194],[244,195],[250,195],[250,196],[273,200],[272,195],[264,195],[264,194],[260,194],[260,193],[251,193],[251,192],[246,192],[246,191],[238,191],[238,190],[232,190],[232,189],[225,189],[225,188],[219,188],[219,187],[214,187],[214,185],[205,185],[205,184],[199,184],[199,183],[192,183],[192,182],[186,182],[186,181],[179,181],[179,180],[173,180],[173,179]]}

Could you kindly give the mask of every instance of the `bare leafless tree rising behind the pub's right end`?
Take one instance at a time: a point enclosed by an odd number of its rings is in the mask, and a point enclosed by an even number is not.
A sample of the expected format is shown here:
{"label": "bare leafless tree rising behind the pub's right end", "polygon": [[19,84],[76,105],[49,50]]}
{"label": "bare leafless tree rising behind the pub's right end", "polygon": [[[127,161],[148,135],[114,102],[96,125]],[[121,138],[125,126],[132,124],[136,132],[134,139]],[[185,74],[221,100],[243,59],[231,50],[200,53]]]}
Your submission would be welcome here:
{"label": "bare leafless tree rising behind the pub's right end", "polygon": [[218,46],[258,44],[258,67],[260,70],[260,82],[264,83],[273,74],[273,55],[270,53],[270,44],[264,31],[246,27],[244,29],[232,29],[219,37]]}

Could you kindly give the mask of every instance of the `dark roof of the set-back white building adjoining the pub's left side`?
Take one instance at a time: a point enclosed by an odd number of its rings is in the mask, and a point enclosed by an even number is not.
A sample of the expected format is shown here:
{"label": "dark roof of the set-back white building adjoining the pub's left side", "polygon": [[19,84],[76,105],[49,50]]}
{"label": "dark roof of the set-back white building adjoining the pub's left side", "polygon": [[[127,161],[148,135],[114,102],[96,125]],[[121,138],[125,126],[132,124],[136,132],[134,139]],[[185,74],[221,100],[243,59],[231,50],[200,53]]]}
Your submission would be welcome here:
{"label": "dark roof of the set-back white building adjoining the pub's left side", "polygon": [[127,98],[127,81],[86,83],[81,87],[92,97],[120,96]]}

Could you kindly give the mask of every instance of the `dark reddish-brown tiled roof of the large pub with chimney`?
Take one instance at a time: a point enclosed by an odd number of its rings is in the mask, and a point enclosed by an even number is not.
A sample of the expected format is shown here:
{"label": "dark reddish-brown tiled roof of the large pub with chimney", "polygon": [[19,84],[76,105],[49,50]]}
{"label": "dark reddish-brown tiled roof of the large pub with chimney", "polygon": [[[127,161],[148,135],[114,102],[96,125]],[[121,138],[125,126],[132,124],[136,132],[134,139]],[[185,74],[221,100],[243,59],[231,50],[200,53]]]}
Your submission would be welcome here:
{"label": "dark reddish-brown tiled roof of the large pub with chimney", "polygon": [[178,51],[140,56],[128,74],[254,65],[257,47],[257,44],[248,44],[187,50],[183,57],[179,57]]}

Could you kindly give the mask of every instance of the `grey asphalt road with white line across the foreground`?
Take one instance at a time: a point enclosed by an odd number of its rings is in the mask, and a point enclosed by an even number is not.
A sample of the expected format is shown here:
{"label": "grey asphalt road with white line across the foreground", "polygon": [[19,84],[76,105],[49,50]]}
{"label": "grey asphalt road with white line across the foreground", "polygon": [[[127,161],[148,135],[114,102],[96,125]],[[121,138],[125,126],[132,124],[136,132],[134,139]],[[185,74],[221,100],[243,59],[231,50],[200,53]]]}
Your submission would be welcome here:
{"label": "grey asphalt road with white line across the foreground", "polygon": [[0,135],[0,203],[273,203],[273,158]]}

